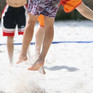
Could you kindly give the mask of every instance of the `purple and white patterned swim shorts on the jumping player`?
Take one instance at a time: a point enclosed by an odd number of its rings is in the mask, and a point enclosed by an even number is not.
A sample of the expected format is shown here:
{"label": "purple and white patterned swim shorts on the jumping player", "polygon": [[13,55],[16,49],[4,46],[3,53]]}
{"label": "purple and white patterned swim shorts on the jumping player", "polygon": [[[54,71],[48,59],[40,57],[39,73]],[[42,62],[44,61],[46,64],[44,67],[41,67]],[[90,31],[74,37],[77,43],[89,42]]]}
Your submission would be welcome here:
{"label": "purple and white patterned swim shorts on the jumping player", "polygon": [[60,0],[29,0],[28,13],[55,18]]}

